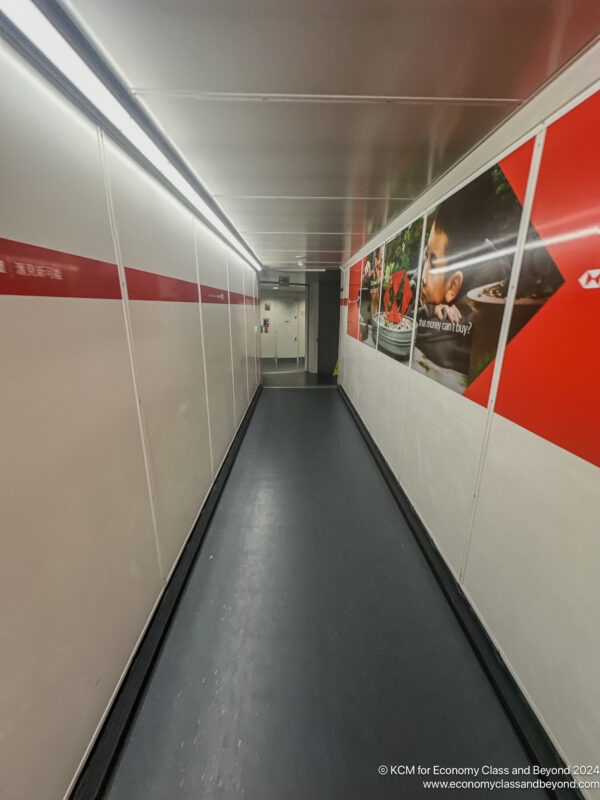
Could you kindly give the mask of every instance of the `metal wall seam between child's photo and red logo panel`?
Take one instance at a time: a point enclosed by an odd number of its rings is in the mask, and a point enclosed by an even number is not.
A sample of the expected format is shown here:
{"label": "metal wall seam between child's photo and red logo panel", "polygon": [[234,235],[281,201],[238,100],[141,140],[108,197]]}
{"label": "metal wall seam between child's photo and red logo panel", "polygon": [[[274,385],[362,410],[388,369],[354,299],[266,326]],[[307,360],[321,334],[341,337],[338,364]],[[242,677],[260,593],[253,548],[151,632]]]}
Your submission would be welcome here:
{"label": "metal wall seam between child's photo and red logo panel", "polygon": [[464,583],[465,572],[469,559],[469,549],[471,546],[471,538],[473,535],[473,526],[475,523],[475,514],[477,512],[477,499],[479,496],[479,489],[481,487],[481,479],[485,469],[485,460],[487,456],[487,449],[490,440],[490,433],[492,428],[492,420],[494,417],[494,406],[496,404],[496,395],[498,393],[498,385],[500,383],[500,375],[502,372],[502,362],[504,361],[504,353],[508,342],[508,331],[512,318],[513,306],[517,294],[517,284],[521,274],[521,264],[523,262],[523,252],[525,250],[525,243],[527,241],[527,233],[529,230],[529,221],[531,218],[531,209],[535,197],[535,190],[537,187],[537,179],[540,171],[540,164],[544,151],[544,140],[546,138],[546,128],[537,134],[533,153],[531,155],[531,164],[529,166],[529,176],[527,179],[527,189],[525,192],[525,199],[523,201],[523,210],[521,212],[521,222],[519,225],[519,233],[517,235],[517,243],[515,248],[515,255],[512,264],[510,280],[508,284],[508,291],[506,295],[506,305],[504,308],[504,315],[502,317],[502,324],[500,326],[500,334],[498,336],[498,348],[496,350],[496,359],[494,362],[494,372],[492,374],[492,383],[490,386],[490,394],[487,405],[487,417],[485,421],[485,428],[483,433],[483,441],[481,443],[481,452],[479,455],[479,462],[477,464],[477,472],[475,473],[475,483],[473,486],[473,495],[471,499],[471,508],[467,521],[467,532],[463,546],[463,555],[458,577],[459,583]]}

